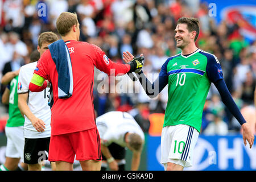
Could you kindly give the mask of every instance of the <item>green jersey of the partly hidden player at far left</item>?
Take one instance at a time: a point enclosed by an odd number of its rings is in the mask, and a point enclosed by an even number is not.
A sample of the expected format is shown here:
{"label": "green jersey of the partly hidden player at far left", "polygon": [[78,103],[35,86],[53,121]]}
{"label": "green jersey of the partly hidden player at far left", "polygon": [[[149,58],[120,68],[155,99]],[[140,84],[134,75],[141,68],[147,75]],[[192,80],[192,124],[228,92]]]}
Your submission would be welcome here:
{"label": "green jersey of the partly hidden player at far left", "polygon": [[10,82],[10,97],[9,97],[9,119],[6,126],[16,127],[24,125],[24,117],[20,113],[18,107],[18,76],[14,77]]}

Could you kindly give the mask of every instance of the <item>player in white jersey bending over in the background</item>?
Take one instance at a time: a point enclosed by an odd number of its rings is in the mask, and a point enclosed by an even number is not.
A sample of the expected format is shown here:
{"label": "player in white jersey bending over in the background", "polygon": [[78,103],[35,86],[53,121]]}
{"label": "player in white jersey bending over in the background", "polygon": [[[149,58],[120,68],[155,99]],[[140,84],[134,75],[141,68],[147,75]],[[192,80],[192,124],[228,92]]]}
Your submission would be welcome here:
{"label": "player in white jersey bending over in the background", "polygon": [[135,119],[121,111],[110,111],[96,119],[101,138],[102,165],[106,170],[125,170],[125,147],[133,152],[131,170],[138,170],[144,144],[144,133]]}

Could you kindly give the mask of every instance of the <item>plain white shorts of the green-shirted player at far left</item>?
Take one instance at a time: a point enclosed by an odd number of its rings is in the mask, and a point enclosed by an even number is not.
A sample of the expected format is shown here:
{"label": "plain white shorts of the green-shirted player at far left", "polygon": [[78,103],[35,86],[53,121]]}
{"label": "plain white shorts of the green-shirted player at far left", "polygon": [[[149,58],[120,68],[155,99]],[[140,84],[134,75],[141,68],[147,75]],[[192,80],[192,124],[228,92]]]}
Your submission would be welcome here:
{"label": "plain white shorts of the green-shirted player at far left", "polygon": [[7,137],[6,156],[9,158],[23,158],[24,130],[23,126],[5,127]]}

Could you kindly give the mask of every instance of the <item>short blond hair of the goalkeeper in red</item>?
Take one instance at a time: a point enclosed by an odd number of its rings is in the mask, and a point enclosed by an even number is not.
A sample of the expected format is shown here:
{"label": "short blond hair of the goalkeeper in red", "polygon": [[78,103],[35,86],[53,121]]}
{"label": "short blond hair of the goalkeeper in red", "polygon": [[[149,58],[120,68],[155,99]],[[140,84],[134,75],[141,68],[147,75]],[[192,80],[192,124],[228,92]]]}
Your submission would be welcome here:
{"label": "short blond hair of the goalkeeper in red", "polygon": [[78,24],[77,14],[63,12],[57,18],[56,28],[61,36],[65,36],[75,24]]}

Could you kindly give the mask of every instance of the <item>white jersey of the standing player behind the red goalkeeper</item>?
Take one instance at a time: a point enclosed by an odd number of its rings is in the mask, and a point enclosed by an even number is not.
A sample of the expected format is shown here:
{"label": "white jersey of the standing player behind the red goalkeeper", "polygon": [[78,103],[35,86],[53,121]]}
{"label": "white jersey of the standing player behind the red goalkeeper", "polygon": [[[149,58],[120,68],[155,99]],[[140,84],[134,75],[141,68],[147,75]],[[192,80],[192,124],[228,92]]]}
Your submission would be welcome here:
{"label": "white jersey of the standing player behind the red goalkeeper", "polygon": [[31,121],[24,115],[24,137],[25,138],[47,138],[51,137],[51,109],[48,105],[49,88],[42,92],[31,92],[28,89],[37,61],[23,65],[20,68],[18,80],[18,94],[28,93],[28,107],[36,118],[42,119],[46,123],[46,129],[38,132],[32,125]]}

